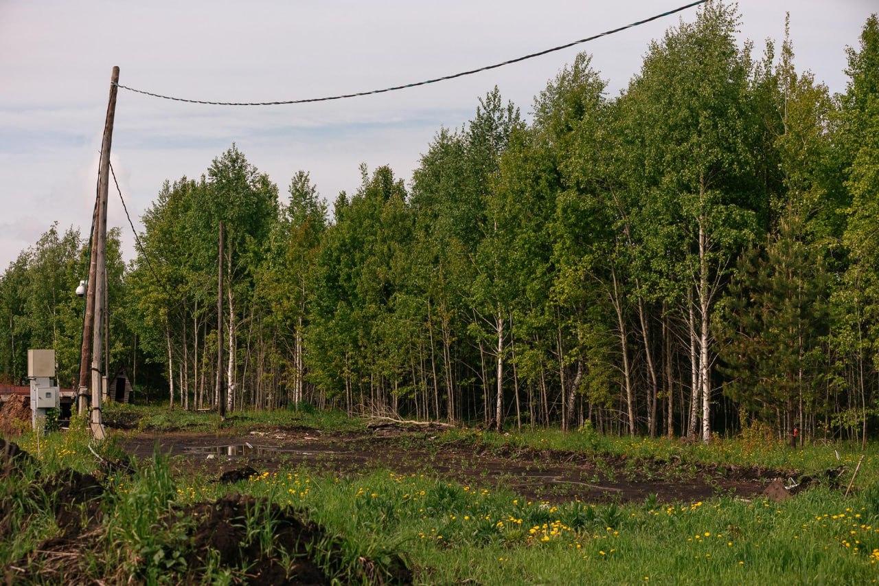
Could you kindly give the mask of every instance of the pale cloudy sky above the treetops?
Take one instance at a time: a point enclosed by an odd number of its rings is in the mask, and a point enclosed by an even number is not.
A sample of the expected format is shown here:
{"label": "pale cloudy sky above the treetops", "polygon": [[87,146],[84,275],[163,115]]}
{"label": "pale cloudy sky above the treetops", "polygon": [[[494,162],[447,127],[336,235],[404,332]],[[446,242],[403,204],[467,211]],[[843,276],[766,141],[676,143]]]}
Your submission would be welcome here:
{"label": "pale cloudy sky above the treetops", "polygon": [[[53,222],[87,232],[109,80],[193,99],[269,101],[358,92],[505,61],[625,25],[686,0],[276,0],[41,2],[0,0],[0,272]],[[790,12],[795,62],[832,92],[846,87],[876,0],[740,0],[739,38],[780,40]],[[407,183],[434,134],[468,121],[498,85],[528,114],[534,95],[578,51],[615,94],[650,40],[689,9],[576,48],[470,77],[319,104],[201,106],[120,90],[112,162],[134,225],[165,179],[198,178],[236,143],[286,194],[310,172],[333,201],[359,165],[390,165]],[[134,238],[111,192],[108,223]]]}

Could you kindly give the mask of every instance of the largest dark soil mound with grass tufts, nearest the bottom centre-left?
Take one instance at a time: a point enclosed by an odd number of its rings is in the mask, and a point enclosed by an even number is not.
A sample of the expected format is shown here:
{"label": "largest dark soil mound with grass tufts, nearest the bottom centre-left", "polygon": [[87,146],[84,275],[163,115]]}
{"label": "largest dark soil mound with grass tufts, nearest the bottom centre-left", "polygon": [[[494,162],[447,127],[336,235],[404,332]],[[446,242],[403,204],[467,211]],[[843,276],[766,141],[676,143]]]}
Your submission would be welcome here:
{"label": "largest dark soil mound with grass tufts, nearest the bottom centre-left", "polygon": [[[338,539],[331,538],[323,528],[303,521],[289,509],[264,499],[241,494],[224,496],[215,502],[200,502],[183,509],[184,518],[196,520],[192,543],[194,556],[202,561],[216,556],[224,566],[248,566],[251,584],[329,584],[334,576],[327,575],[318,560],[329,560],[331,571],[342,571],[344,553]],[[271,546],[253,538],[248,527],[268,528]],[[292,563],[282,561],[281,551]],[[360,560],[360,581],[374,584],[408,584],[410,570],[393,556],[387,568],[378,568],[370,560]]]}

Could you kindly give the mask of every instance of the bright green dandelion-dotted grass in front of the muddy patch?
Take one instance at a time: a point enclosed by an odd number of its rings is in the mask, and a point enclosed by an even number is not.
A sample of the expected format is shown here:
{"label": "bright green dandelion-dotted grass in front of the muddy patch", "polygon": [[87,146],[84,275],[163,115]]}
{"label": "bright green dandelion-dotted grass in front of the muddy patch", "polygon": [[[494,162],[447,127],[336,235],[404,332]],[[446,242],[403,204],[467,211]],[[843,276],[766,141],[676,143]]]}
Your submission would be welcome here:
{"label": "bright green dandelion-dotted grass in front of the muddy patch", "polygon": [[[186,498],[215,494],[193,479]],[[422,475],[264,473],[241,490],[304,506],[355,543],[402,551],[418,581],[864,583],[879,576],[879,500],[826,488],[788,502],[731,498],[562,506]],[[191,491],[191,492],[188,492]]]}

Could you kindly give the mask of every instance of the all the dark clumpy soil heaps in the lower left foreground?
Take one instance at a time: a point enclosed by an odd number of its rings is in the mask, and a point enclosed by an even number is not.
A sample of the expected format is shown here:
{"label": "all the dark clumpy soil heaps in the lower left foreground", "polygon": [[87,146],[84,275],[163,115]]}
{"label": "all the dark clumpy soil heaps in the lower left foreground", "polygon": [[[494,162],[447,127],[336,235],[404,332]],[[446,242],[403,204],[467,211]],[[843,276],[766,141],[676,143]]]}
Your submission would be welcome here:
{"label": "all the dark clumpy soil heaps in the lower left foreground", "polygon": [[[0,448],[0,456],[8,463],[30,458],[14,443],[3,443]],[[18,469],[9,465],[7,471],[17,473]],[[96,553],[94,544],[105,540],[100,497],[106,488],[98,478],[66,469],[38,479],[25,490],[29,498],[22,502],[30,503],[32,509],[47,506],[52,510],[61,534],[4,568],[7,583],[29,582],[34,576],[40,576],[40,583],[144,581],[138,570],[127,575],[124,568],[107,568],[116,574],[105,575],[100,581],[89,574],[87,560]],[[182,562],[166,569],[172,582],[204,582],[201,568],[218,564],[219,568],[244,568],[243,574],[236,575],[236,582],[248,584],[331,584],[339,576],[358,583],[412,583],[410,569],[396,554],[385,556],[381,564],[360,558],[354,566],[347,566],[340,538],[308,521],[301,512],[265,499],[230,494],[215,502],[178,508],[165,522],[168,527],[179,526],[185,535],[182,542],[169,544],[174,551],[167,553],[178,555]],[[3,534],[15,530],[11,510],[5,506],[0,506],[0,528]]]}

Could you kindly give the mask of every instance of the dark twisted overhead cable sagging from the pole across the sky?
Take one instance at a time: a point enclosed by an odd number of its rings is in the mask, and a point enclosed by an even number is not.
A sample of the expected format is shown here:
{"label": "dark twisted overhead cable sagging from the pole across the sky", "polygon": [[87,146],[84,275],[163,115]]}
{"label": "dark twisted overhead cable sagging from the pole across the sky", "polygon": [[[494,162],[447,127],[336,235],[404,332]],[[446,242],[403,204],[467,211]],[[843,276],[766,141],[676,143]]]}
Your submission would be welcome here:
{"label": "dark twisted overhead cable sagging from the pole across the sky", "polygon": [[512,63],[518,63],[521,61],[526,61],[527,59],[533,59],[534,57],[539,57],[541,55],[547,55],[548,53],[554,53],[556,51],[561,51],[562,49],[573,47],[575,45],[580,45],[585,42],[589,42],[590,40],[600,39],[601,37],[607,37],[614,33],[620,33],[621,31],[625,31],[629,28],[634,28],[636,26],[641,26],[652,22],[653,20],[657,20],[659,18],[665,18],[667,16],[671,16],[672,14],[676,14],[677,12],[686,11],[688,8],[693,8],[694,6],[698,6],[699,4],[705,4],[708,0],[697,0],[696,2],[691,2],[690,4],[684,4],[683,6],[679,6],[671,11],[665,11],[661,14],[657,14],[651,16],[650,18],[644,18],[643,20],[638,20],[631,24],[620,26],[618,28],[614,28],[609,31],[605,31],[604,33],[593,34],[591,37],[586,37],[585,39],[572,40],[570,43],[565,43],[563,45],[558,45],[557,47],[544,49],[542,51],[538,51],[537,53],[530,53],[528,55],[522,55],[521,57],[516,57],[515,59],[509,59],[505,62],[494,63],[493,65],[485,65],[484,67],[477,68],[475,70],[467,70],[460,71],[458,73],[452,73],[447,76],[442,77],[433,77],[432,79],[425,79],[424,81],[413,82],[411,84],[403,84],[403,85],[393,85],[391,87],[382,88],[381,90],[368,90],[366,92],[353,92],[353,93],[343,93],[336,96],[323,96],[322,98],[305,98],[305,99],[287,99],[280,100],[274,102],[221,102],[215,100],[207,100],[207,99],[185,99],[185,98],[177,98],[174,96],[166,96],[161,93],[155,92],[147,92],[146,90],[138,90],[133,87],[128,87],[127,85],[116,84],[117,87],[122,88],[123,90],[128,90],[129,92],[142,93],[146,96],[152,96],[153,98],[162,98],[162,99],[171,99],[176,102],[188,102],[190,104],[209,104],[213,106],[281,106],[286,104],[308,104],[310,102],[329,102],[334,99],[348,99],[348,98],[359,98],[360,96],[371,96],[376,93],[386,93],[386,92],[396,92],[398,90],[405,90],[410,87],[418,87],[419,85],[427,85],[427,84],[436,84],[441,81],[447,81],[449,79],[454,79],[456,77],[464,77],[470,76],[475,73],[480,73],[482,71],[495,70],[498,67],[504,67],[505,65],[511,65]]}

